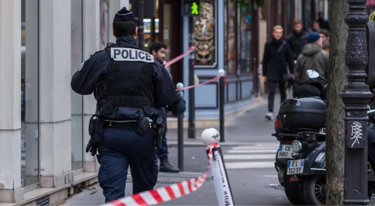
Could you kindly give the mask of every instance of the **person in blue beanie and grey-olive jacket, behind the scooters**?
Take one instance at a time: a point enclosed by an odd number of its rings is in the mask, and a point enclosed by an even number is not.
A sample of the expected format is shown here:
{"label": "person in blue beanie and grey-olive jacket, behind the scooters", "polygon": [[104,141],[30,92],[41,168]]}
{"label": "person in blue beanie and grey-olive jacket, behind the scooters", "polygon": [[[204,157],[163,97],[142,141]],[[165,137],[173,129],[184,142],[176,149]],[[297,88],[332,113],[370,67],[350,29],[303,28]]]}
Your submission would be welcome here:
{"label": "person in blue beanie and grey-olive jacket, behind the scooters", "polygon": [[310,79],[306,75],[306,70],[314,69],[321,76],[327,78],[328,72],[328,57],[327,51],[323,50],[322,38],[318,33],[312,32],[308,37],[308,44],[306,44],[301,54],[297,58],[297,64],[294,68],[294,81],[296,86],[302,84],[311,84],[312,82],[320,82],[326,84],[320,79]]}

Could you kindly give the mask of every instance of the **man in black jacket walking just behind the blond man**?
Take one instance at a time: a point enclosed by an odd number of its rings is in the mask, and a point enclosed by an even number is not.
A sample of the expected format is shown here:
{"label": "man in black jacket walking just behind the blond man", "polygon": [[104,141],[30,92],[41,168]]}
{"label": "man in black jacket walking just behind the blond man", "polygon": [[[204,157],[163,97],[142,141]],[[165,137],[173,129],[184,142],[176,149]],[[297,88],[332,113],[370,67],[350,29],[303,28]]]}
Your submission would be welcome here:
{"label": "man in black jacket walking just behind the blond man", "polygon": [[308,42],[309,32],[303,28],[301,19],[293,19],[293,32],[288,34],[287,42],[294,54],[294,63],[297,62],[298,55],[301,54],[303,46]]}

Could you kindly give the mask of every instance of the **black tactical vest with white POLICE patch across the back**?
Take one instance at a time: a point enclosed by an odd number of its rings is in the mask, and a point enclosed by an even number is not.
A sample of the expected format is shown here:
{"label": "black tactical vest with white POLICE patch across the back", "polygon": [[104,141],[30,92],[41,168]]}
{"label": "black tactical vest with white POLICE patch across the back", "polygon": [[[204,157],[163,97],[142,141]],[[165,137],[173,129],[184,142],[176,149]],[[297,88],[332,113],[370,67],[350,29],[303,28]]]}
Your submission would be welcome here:
{"label": "black tactical vest with white POLICE patch across the back", "polygon": [[136,120],[152,116],[153,56],[126,44],[107,47],[107,78],[99,92],[99,117],[107,120]]}

